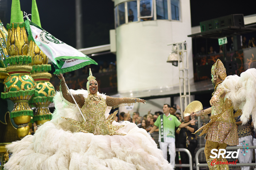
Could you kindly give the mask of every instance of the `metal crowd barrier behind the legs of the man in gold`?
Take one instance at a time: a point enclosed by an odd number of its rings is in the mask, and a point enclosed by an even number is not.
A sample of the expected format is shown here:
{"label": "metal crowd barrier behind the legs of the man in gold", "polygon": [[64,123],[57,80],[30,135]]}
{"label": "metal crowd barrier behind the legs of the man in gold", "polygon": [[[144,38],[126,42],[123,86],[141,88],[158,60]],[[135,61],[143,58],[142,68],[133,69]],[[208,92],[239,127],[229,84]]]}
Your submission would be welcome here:
{"label": "metal crowd barrier behind the legs of the man in gold", "polygon": [[[246,148],[248,147],[248,149],[256,149],[256,146],[246,146]],[[228,146],[226,148],[226,150],[233,150],[233,149],[243,149],[244,146]],[[204,163],[204,164],[200,164],[199,163],[199,154],[200,152],[204,151],[204,148],[200,148],[198,149],[198,151],[196,152],[196,156],[195,156],[195,159],[196,159],[196,170],[199,170],[199,167],[205,167],[205,166],[208,166],[208,164]],[[232,165],[232,164],[229,164],[228,166],[256,166],[256,163],[236,163],[236,165]]]}

